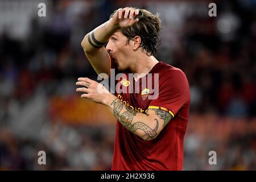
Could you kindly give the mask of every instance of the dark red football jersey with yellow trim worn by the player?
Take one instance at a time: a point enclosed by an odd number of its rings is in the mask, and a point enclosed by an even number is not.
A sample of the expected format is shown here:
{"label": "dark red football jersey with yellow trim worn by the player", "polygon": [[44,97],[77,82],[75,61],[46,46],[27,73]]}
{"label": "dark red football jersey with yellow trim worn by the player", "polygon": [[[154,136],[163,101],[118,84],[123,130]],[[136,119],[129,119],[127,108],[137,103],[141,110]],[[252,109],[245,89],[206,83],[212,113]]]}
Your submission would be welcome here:
{"label": "dark red football jersey with yellow trim worn by the player", "polygon": [[[182,169],[184,135],[190,106],[188,80],[180,69],[161,61],[149,73],[152,73],[152,88],[155,85],[154,73],[158,73],[158,98],[148,99],[149,95],[145,90],[150,88],[147,88],[147,84],[142,84],[142,78],[137,82],[121,78],[119,81],[123,80],[122,86],[127,90],[135,90],[139,85],[139,93],[115,93],[115,96],[135,111],[147,113],[147,109],[157,108],[168,111],[173,118],[155,139],[148,141],[131,133],[117,121],[112,170]],[[129,78],[128,73],[125,75]]]}

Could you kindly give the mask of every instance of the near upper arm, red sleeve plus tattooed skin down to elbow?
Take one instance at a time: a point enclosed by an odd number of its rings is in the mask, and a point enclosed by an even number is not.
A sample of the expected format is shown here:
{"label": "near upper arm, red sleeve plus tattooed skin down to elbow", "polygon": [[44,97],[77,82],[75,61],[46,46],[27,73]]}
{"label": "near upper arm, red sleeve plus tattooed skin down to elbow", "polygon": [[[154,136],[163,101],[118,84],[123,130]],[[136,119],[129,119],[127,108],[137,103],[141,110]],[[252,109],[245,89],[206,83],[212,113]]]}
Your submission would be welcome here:
{"label": "near upper arm, red sleeve plus tattooed skin down to elbow", "polygon": [[179,72],[166,74],[159,79],[158,98],[148,106],[148,126],[155,130],[156,136],[175,117],[180,108],[189,100],[187,78]]}

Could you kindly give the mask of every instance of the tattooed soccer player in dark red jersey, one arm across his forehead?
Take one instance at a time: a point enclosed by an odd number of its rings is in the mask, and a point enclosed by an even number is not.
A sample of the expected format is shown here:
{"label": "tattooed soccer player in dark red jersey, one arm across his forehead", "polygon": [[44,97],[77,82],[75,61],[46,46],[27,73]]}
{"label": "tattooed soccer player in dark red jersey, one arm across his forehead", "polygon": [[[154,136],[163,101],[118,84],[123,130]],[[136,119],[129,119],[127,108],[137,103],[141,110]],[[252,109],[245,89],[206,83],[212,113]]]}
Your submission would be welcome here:
{"label": "tattooed soccer player in dark red jersey, one arm across his forehead", "polygon": [[[112,170],[182,169],[189,84],[180,69],[156,60],[160,28],[157,14],[125,7],[114,11],[108,22],[82,40],[85,55],[98,74],[110,76],[110,68],[127,77],[138,73],[131,80],[120,78],[115,84],[127,90],[134,90],[138,84],[139,93],[114,95],[89,78],[76,82],[82,86],[77,88],[81,97],[108,106],[117,118]],[[152,89],[143,83],[143,77],[150,73],[152,85],[158,85],[158,97],[154,99],[149,98]],[[104,93],[99,89],[105,89]]]}

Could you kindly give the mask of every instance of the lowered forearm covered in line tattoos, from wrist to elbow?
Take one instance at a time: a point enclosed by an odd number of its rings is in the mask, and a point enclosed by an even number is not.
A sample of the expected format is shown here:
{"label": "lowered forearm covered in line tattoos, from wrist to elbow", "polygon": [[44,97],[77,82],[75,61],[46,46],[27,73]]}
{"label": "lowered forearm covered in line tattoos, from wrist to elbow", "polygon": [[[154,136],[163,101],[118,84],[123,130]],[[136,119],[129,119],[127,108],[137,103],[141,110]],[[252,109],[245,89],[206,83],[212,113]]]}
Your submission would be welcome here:
{"label": "lowered forearm covered in line tattoos, from wrist to elbow", "polygon": [[[127,107],[117,97],[110,97],[107,106],[112,111],[115,118],[135,135],[138,135],[143,140],[154,139],[158,133],[159,121],[157,118],[151,119],[148,114],[138,113]],[[152,120],[152,121],[151,121]]]}

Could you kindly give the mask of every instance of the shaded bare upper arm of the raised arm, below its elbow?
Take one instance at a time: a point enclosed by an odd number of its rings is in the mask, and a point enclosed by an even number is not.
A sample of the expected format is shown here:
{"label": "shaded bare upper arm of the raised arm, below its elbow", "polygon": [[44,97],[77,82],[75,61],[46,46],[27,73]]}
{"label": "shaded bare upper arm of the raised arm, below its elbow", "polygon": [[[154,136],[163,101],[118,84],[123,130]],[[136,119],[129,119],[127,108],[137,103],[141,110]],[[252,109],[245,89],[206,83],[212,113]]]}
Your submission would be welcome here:
{"label": "shaded bare upper arm of the raised arm, below its elbow", "polygon": [[88,35],[82,40],[81,46],[84,49],[85,55],[88,58],[93,69],[99,75],[100,73],[106,73],[109,75],[110,72],[110,56],[106,48],[93,48],[87,41]]}

